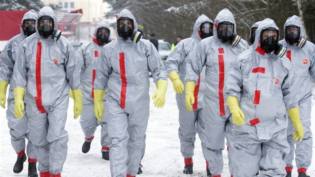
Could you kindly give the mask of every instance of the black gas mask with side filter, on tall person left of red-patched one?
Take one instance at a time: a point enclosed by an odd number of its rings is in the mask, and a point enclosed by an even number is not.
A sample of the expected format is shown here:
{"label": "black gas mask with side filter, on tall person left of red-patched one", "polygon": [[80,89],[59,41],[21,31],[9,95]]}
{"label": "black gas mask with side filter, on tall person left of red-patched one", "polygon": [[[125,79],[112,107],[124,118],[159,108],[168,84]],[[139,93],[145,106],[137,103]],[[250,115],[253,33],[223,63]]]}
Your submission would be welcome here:
{"label": "black gas mask with side filter, on tall person left of red-patched one", "polygon": [[234,24],[228,21],[222,21],[217,25],[217,38],[222,42],[230,40],[230,44],[236,46],[240,41],[240,36],[234,34]]}

